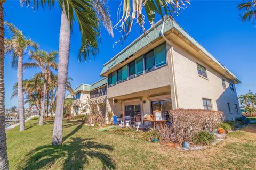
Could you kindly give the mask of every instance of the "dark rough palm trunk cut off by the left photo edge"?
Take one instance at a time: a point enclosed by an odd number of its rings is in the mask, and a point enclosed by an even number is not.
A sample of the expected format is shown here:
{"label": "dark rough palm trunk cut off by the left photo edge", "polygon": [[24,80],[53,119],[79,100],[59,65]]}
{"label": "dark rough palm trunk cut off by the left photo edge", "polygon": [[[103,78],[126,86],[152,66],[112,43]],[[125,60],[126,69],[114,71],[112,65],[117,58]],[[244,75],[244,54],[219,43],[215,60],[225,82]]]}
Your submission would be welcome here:
{"label": "dark rough palm trunk cut off by the left photo edge", "polygon": [[8,169],[4,108],[4,15],[0,3],[0,169]]}

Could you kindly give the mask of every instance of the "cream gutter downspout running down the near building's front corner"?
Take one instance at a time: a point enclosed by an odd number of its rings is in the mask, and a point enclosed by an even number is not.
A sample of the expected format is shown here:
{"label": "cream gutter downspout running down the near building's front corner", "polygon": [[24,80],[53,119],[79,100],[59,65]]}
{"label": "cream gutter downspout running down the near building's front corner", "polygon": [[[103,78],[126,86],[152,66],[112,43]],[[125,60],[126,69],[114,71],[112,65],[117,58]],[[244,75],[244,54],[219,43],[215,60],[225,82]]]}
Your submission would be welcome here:
{"label": "cream gutter downspout running down the near building's front corner", "polygon": [[160,35],[161,35],[161,37],[163,37],[163,39],[166,41],[166,43],[171,47],[171,65],[172,65],[172,80],[174,82],[174,98],[175,98],[175,103],[177,106],[176,109],[179,109],[178,92],[177,92],[177,85],[176,85],[175,72],[174,72],[173,46],[172,46],[171,41],[164,36],[164,33],[163,33],[164,26],[165,26],[165,20],[163,21]]}

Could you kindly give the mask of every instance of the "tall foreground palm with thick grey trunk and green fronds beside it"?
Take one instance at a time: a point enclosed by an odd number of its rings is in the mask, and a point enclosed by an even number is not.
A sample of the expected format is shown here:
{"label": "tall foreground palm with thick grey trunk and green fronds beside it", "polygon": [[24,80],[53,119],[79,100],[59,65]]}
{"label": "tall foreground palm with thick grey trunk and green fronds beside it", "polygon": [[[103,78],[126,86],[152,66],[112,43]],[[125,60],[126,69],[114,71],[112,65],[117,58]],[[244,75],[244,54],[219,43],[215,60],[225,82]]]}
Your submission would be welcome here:
{"label": "tall foreground palm with thick grey trunk and green fronds beside it", "polygon": [[[35,9],[39,5],[49,8],[54,6],[54,1],[42,0],[33,2],[34,5],[32,6]],[[62,143],[63,107],[68,73],[70,30],[72,29],[73,20],[75,18],[77,19],[82,36],[81,48],[78,55],[80,61],[86,60],[90,54],[95,56],[98,53],[100,36],[99,21],[102,21],[107,31],[113,35],[112,24],[105,0],[59,0],[58,2],[61,8],[58,97],[56,100],[52,145]],[[21,3],[29,5],[30,0],[21,0]]]}

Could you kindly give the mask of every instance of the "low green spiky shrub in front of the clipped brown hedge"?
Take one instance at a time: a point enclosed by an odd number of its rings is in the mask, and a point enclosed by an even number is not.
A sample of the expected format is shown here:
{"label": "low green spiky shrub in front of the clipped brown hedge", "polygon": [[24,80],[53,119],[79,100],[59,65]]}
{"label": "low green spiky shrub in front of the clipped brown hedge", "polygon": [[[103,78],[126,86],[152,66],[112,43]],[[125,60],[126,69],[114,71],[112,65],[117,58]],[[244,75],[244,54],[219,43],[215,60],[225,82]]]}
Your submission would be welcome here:
{"label": "low green spiky shrub in front of the clipped brown hedge", "polygon": [[194,135],[192,141],[195,145],[210,145],[214,141],[212,133],[202,131]]}

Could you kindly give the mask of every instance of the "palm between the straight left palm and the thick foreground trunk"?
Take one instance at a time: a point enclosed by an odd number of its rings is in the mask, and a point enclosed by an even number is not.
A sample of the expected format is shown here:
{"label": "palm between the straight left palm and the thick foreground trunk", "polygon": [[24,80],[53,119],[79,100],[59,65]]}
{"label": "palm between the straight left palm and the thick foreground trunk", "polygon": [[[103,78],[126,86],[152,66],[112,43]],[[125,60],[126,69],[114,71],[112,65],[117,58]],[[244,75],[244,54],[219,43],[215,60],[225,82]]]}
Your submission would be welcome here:
{"label": "palm between the straight left palm and the thick foreground trunk", "polygon": [[[47,86],[49,83],[49,74],[52,74],[51,69],[58,70],[58,65],[56,63],[56,57],[58,52],[45,52],[43,50],[39,50],[36,52],[31,51],[31,55],[29,57],[30,60],[34,60],[34,62],[28,62],[23,64],[24,68],[28,67],[39,67],[44,76],[44,88],[42,93],[42,101],[41,101],[41,114],[39,119],[39,125],[43,125],[43,118],[45,114],[45,94],[48,91]],[[47,95],[48,96],[48,95]],[[47,98],[47,101],[49,98]],[[48,109],[46,109],[48,111]]]}

